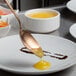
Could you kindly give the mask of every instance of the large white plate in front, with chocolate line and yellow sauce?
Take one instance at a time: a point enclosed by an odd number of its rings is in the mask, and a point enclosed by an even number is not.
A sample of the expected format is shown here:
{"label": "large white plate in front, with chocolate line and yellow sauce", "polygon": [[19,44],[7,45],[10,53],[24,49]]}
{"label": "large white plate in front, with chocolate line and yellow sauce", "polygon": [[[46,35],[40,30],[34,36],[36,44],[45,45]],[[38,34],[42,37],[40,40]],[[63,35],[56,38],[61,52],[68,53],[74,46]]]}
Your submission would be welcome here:
{"label": "large white plate in front, with chocolate line and yellow sauce", "polygon": [[18,35],[9,36],[0,39],[0,69],[4,69],[14,73],[22,74],[47,74],[64,70],[76,64],[76,44],[70,40],[51,36],[33,34],[39,41],[44,50],[52,53],[61,53],[67,55],[68,58],[58,60],[45,56],[44,59],[51,62],[52,66],[49,70],[37,70],[33,68],[33,64],[39,61],[39,58],[32,54],[26,54],[19,49],[23,47]]}

